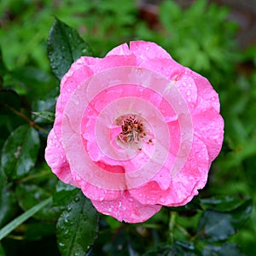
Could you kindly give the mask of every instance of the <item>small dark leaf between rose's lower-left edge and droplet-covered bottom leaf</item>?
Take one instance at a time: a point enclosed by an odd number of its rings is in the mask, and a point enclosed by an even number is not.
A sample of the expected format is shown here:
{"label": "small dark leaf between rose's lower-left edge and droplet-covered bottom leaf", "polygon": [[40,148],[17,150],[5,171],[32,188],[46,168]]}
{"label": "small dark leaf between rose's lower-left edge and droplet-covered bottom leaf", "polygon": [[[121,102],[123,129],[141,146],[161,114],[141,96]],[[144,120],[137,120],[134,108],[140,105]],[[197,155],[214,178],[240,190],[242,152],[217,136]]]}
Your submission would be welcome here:
{"label": "small dark leaf between rose's lower-left edge and droplet-covered bottom leaf", "polygon": [[53,195],[53,206],[67,206],[73,196],[78,193],[78,189],[66,183],[59,181],[56,184],[55,194]]}

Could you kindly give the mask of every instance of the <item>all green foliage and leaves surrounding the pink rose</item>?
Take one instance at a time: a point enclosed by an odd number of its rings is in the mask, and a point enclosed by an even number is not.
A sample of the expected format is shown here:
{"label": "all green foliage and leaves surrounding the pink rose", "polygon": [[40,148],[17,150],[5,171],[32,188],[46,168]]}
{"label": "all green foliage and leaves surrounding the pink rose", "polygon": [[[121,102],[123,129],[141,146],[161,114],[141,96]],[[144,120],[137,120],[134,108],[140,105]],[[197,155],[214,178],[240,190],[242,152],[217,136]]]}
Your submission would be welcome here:
{"label": "all green foliage and leaves surrounding the pink rose", "polygon": [[[166,0],[152,27],[135,1],[1,1],[0,255],[256,253],[255,204],[248,199],[256,199],[256,73],[237,69],[243,61],[255,67],[256,55],[255,47],[238,49],[229,12],[206,0],[187,9]],[[98,222],[90,201],[51,173],[44,148],[58,80],[73,61],[91,55],[90,47],[103,56],[132,39],[154,41],[207,76],[221,99],[224,147],[207,188],[186,206],[163,207],[143,224],[102,215]]]}

